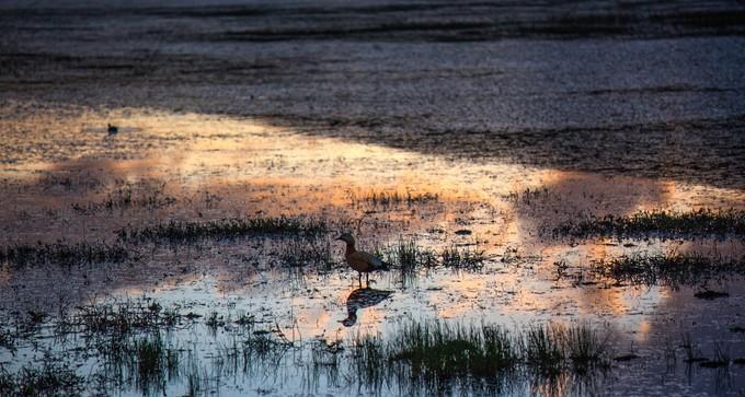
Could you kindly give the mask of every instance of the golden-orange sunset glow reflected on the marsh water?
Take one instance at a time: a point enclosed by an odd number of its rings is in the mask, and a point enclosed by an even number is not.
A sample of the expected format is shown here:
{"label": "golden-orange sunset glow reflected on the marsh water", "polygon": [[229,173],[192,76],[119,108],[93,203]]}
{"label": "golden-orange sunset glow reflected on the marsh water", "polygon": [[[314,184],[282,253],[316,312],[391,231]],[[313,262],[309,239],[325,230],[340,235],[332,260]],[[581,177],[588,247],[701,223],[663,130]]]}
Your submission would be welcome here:
{"label": "golden-orange sunset glow reflected on the marsh water", "polygon": [[[103,128],[110,121],[121,128],[115,136]],[[0,127],[8,131],[0,138],[4,145],[18,145],[27,153],[0,168],[8,182],[2,187],[0,213],[4,241],[93,237],[111,242],[124,225],[261,213],[344,220],[346,223],[340,224],[356,226],[360,245],[368,248],[392,244],[400,236],[416,236],[432,249],[478,242],[491,258],[482,272],[433,271],[408,290],[401,290],[396,277],[375,277],[376,288],[396,294],[380,305],[360,310],[357,325],[368,331],[417,314],[512,324],[531,317],[629,317],[640,306],[649,312],[666,299],[664,288],[609,288],[603,282],[577,288],[571,280],[555,278],[554,264],[565,260],[581,268],[624,253],[673,247],[711,250],[714,243],[651,242],[626,247],[610,238],[554,240],[547,231],[578,214],[745,208],[745,192],[738,190],[428,155],[297,133],[245,118],[122,109],[69,112],[62,117],[36,114],[0,120]],[[68,179],[72,187],[54,183]],[[96,183],[85,187],[87,180]],[[148,183],[138,185],[144,180]],[[174,197],[175,203],[96,214],[71,210],[74,203],[106,199],[123,183],[133,184],[135,195],[161,189],[158,191]],[[366,200],[370,194],[435,199],[382,206]],[[21,213],[25,215],[19,217]],[[42,213],[55,213],[56,218],[49,222]],[[462,230],[468,235],[455,233]],[[333,242],[332,249],[334,259],[341,261],[342,246]],[[742,255],[742,242],[720,244],[718,252]],[[194,290],[198,288],[202,299],[242,296],[256,305],[262,300],[270,307],[280,305],[278,311],[291,312],[297,323],[293,327],[305,335],[346,332],[339,320],[346,315],[345,296],[356,287],[351,271],[325,279],[306,275],[302,287],[282,293],[277,291],[287,291],[286,287],[266,287],[283,283],[282,273],[257,276],[261,270],[247,265],[249,254],[261,253],[226,243],[200,252],[198,259],[186,250],[165,253],[145,259],[149,271],[118,270],[117,277],[105,276],[112,281],[100,288],[105,288],[106,295],[158,296],[188,295],[194,292],[183,292],[190,291],[184,285],[197,285]],[[179,270],[182,275],[173,264],[183,267]],[[198,281],[203,277],[199,269],[208,269],[204,271],[211,275],[209,282]],[[7,269],[0,283],[20,282],[23,277],[22,271]],[[34,283],[45,288],[44,280]],[[10,299],[10,289],[4,291]],[[634,315],[630,322],[641,334],[649,326],[643,316]]]}

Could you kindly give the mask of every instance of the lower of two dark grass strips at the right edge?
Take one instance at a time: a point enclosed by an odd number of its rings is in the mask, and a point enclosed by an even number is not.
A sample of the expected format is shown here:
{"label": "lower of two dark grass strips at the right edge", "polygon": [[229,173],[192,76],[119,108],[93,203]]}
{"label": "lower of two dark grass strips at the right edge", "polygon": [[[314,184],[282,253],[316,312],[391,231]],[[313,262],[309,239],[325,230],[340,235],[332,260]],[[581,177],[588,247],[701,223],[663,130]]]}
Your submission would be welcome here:
{"label": "lower of two dark grass strips at the right edge", "polygon": [[624,255],[597,261],[593,266],[594,271],[617,282],[673,288],[696,285],[725,276],[745,275],[745,259],[680,253]]}

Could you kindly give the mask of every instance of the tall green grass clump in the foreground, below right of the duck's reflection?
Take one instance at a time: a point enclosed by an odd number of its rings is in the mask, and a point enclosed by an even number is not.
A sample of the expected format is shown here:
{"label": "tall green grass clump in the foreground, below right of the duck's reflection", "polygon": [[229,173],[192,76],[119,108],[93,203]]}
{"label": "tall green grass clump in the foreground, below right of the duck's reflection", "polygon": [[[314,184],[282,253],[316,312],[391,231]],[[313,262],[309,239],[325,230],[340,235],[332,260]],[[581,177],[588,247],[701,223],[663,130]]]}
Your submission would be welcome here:
{"label": "tall green grass clump in the foreground, below right of the duck's reflection", "polygon": [[605,339],[588,324],[534,326],[511,334],[494,326],[412,322],[385,342],[378,336],[353,340],[352,367],[363,384],[424,385],[438,390],[455,385],[498,386],[523,375],[584,375],[610,365]]}

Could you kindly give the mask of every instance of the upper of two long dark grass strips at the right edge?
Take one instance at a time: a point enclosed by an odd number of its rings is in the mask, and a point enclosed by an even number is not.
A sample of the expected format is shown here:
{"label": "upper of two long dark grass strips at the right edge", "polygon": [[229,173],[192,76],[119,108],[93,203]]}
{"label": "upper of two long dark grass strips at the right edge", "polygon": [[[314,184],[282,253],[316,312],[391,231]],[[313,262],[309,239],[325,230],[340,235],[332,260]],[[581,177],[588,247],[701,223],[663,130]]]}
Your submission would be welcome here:
{"label": "upper of two long dark grass strips at the right edge", "polygon": [[640,211],[630,217],[607,215],[568,222],[553,230],[554,235],[592,236],[726,236],[745,235],[745,211],[699,209],[687,212]]}

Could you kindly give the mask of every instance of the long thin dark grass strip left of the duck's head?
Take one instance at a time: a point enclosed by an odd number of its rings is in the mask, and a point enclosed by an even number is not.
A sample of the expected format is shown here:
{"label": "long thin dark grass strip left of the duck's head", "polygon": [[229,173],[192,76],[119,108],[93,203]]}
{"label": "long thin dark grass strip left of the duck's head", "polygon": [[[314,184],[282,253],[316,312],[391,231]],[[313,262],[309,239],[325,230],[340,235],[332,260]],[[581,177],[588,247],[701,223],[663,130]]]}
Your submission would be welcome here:
{"label": "long thin dark grass strip left of the duck's head", "polygon": [[238,238],[252,235],[318,235],[329,231],[325,221],[312,218],[233,218],[208,222],[170,221],[117,232],[123,242],[194,243],[206,238]]}

